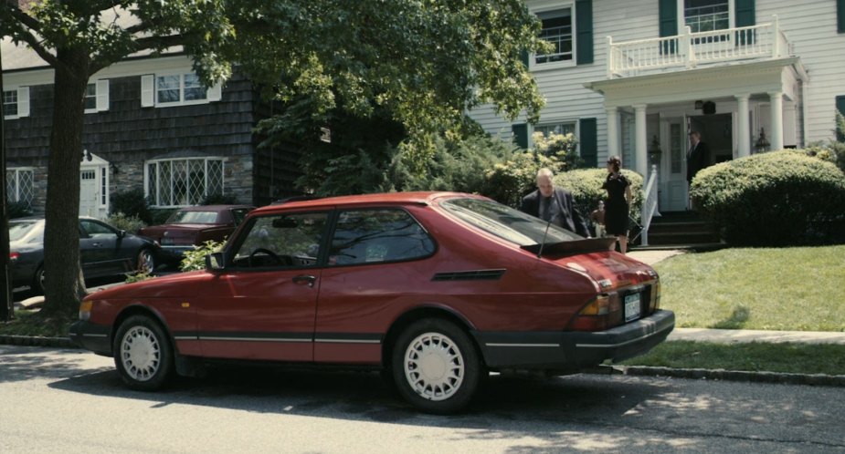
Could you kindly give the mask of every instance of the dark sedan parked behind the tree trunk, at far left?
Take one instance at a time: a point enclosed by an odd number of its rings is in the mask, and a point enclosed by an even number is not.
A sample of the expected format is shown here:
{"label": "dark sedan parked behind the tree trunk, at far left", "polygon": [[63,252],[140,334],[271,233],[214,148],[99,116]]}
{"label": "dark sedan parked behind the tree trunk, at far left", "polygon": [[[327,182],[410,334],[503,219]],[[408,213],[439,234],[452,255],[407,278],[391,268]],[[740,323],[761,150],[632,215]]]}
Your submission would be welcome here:
{"label": "dark sedan parked behind the tree trunk, at far left", "polygon": [[[97,219],[79,218],[79,262],[86,279],[133,272],[152,273],[159,246]],[[12,283],[44,291],[44,218],[9,221]]]}

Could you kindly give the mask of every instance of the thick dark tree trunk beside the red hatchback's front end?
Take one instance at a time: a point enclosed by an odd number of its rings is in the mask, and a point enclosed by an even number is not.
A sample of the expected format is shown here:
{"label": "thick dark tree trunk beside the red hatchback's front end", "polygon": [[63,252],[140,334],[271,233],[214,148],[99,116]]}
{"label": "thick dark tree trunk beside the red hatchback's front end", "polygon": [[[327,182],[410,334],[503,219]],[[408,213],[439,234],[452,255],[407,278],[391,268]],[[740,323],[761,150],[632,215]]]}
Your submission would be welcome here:
{"label": "thick dark tree trunk beside the red hatchback's front end", "polygon": [[58,49],[53,85],[44,232],[44,315],[74,315],[85,295],[79,267],[79,161],[90,57],[85,49]]}

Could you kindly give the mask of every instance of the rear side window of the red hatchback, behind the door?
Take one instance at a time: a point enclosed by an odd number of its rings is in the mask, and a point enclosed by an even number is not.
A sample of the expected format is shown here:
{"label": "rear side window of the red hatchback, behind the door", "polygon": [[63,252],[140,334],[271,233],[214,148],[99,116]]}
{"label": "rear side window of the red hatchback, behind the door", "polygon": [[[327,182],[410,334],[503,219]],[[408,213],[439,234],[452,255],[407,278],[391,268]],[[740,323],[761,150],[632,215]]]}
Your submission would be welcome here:
{"label": "rear side window of the red hatchback, behind the door", "polygon": [[428,232],[404,210],[346,211],[338,216],[329,265],[412,260],[434,250]]}

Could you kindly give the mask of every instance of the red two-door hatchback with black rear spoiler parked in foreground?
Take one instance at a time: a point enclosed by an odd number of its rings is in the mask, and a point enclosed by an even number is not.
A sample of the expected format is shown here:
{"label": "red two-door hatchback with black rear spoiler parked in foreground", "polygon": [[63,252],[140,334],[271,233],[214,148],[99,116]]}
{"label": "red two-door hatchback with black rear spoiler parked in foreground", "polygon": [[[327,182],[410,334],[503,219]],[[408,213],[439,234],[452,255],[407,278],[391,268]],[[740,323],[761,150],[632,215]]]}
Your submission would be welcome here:
{"label": "red two-door hatchback with black rear spoiler parked in foreground", "polygon": [[491,371],[572,373],[669,335],[657,273],[613,241],[455,192],[270,205],[205,271],[90,294],[71,338],[136,389],[218,360],[371,366],[450,413]]}

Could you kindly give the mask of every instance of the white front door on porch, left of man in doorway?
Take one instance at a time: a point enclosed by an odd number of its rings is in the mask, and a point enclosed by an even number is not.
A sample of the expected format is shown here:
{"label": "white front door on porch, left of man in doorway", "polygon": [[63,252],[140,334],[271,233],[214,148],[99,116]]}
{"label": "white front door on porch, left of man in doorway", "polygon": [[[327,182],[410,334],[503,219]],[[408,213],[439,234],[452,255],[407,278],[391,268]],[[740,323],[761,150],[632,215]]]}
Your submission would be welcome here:
{"label": "white front door on porch, left of man in doorway", "polygon": [[687,209],[688,200],[686,150],[689,146],[683,119],[664,121],[660,133],[662,142],[667,144],[660,160],[660,211],[682,212]]}

